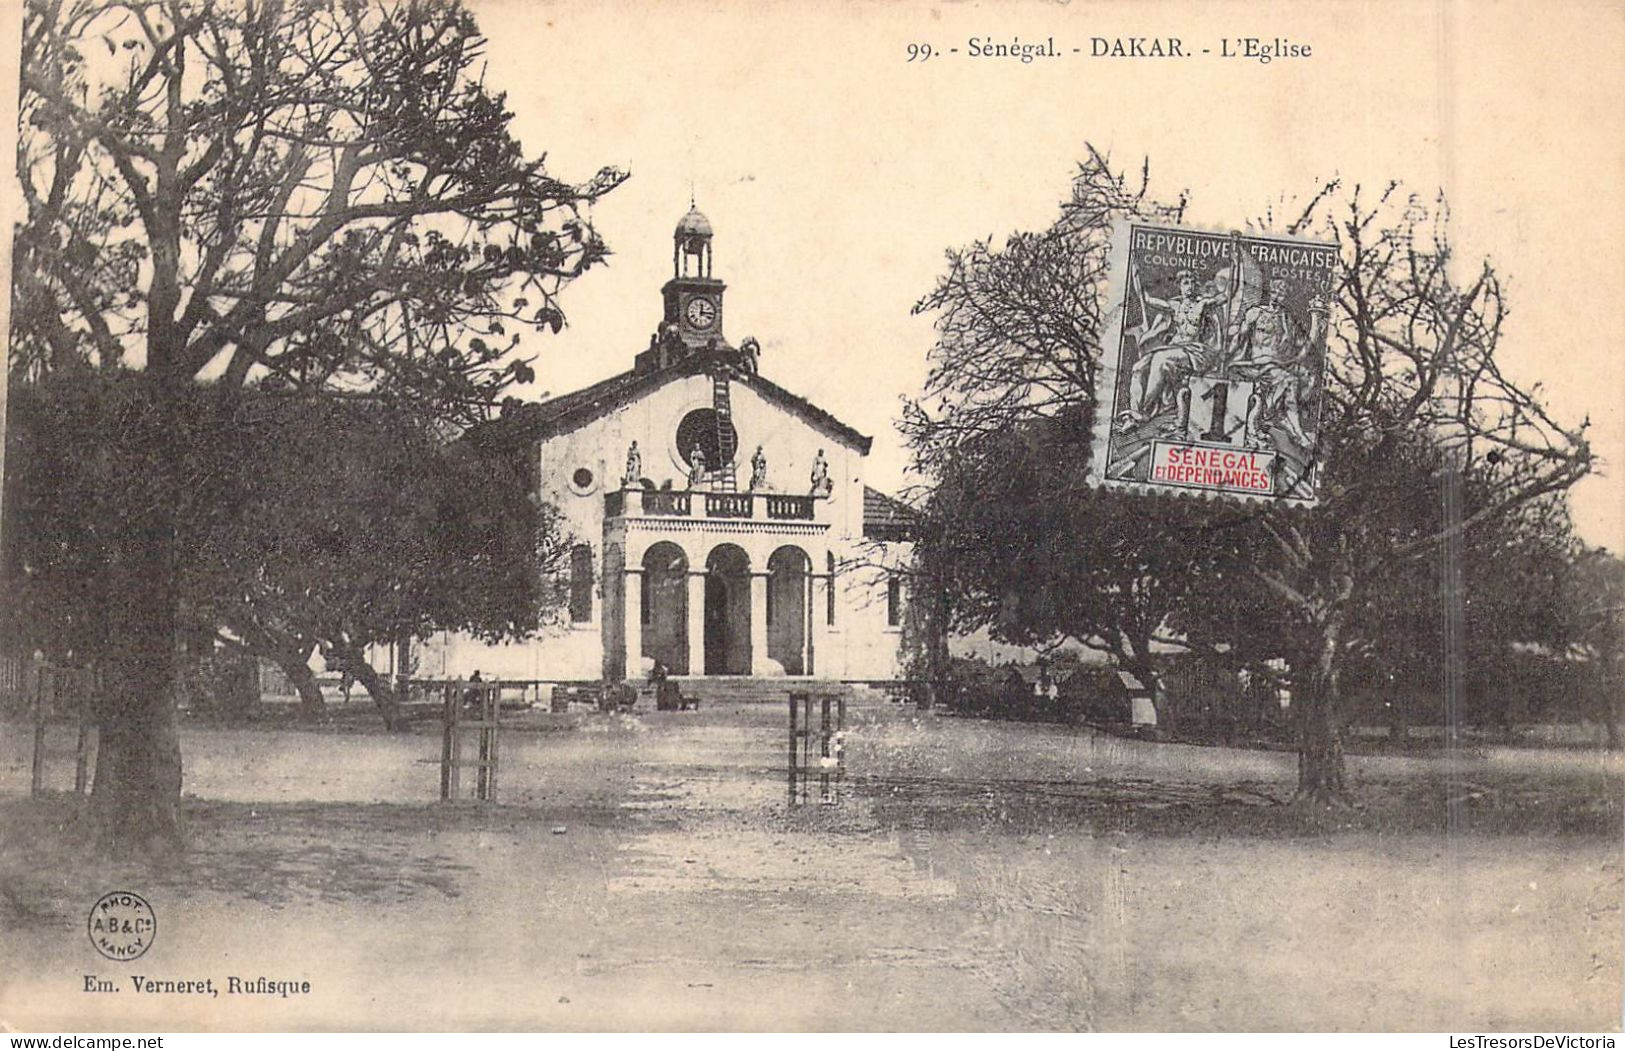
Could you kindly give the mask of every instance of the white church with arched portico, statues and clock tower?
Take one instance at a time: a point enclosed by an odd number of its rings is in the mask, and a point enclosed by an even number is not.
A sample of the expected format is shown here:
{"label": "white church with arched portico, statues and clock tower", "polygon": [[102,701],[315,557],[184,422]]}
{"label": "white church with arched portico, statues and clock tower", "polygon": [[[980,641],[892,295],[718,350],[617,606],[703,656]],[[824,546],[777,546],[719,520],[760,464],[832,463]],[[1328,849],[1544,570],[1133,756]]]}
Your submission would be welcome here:
{"label": "white church with arched portico, statues and clock tower", "polygon": [[900,677],[908,510],[864,484],[868,435],[728,341],[723,292],[691,210],[632,367],[494,424],[574,538],[567,603],[533,638],[436,637],[416,674]]}

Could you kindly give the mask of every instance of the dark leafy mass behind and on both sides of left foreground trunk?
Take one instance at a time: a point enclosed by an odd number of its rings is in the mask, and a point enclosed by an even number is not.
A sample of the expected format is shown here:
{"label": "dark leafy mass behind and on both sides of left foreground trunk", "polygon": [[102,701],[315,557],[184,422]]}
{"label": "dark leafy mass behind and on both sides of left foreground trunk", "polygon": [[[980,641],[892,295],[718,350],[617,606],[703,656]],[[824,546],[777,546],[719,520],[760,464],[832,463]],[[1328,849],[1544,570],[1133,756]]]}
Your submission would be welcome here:
{"label": "dark leafy mass behind and on both sides of left foreground trunk", "polygon": [[[65,374],[15,391],[0,637],[55,660],[114,653],[109,565],[140,546],[158,426],[130,374]],[[507,448],[445,442],[400,406],[258,390],[223,403],[192,388],[190,513],[177,521],[180,622],[275,661],[307,710],[309,661],[353,674],[393,723],[370,647],[450,630],[491,640],[538,630],[567,536]]]}

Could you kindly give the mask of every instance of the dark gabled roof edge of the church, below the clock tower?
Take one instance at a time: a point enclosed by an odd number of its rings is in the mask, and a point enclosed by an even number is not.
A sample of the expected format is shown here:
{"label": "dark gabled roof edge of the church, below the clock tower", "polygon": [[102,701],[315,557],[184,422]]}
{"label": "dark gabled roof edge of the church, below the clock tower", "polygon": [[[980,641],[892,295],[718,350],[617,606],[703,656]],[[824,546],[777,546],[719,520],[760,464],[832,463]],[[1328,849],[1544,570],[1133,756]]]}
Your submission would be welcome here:
{"label": "dark gabled roof edge of the church, below the clock tower", "polygon": [[642,398],[644,395],[681,380],[689,375],[710,372],[713,367],[726,367],[734,383],[749,387],[764,400],[800,416],[819,430],[855,445],[863,455],[869,453],[874,439],[850,427],[806,398],[790,393],[783,387],[764,378],[760,374],[731,367],[722,354],[699,352],[665,369],[652,372],[627,370],[600,380],[592,387],[549,398],[536,404],[522,404],[502,416],[502,419],[486,424],[502,429],[504,437],[548,439],[566,434],[588,424],[614,409]]}

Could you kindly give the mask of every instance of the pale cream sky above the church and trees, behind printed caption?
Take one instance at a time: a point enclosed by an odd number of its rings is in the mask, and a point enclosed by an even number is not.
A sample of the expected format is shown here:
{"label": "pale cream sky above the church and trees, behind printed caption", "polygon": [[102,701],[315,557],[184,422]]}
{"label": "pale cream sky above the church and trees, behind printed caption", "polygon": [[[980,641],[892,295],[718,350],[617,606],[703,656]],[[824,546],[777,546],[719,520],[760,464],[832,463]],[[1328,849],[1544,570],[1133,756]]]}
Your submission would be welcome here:
{"label": "pale cream sky above the church and trees, behind printed caption", "polygon": [[[1461,258],[1505,276],[1513,374],[1589,416],[1601,474],[1583,533],[1625,531],[1625,5],[1618,3],[520,3],[474,0],[488,83],[526,149],[632,179],[595,208],[614,257],[566,294],[570,327],[526,344],[531,391],[630,365],[660,320],[671,229],[692,192],[717,229],[726,335],[762,369],[874,435],[869,476],[904,481],[894,421],[931,322],[910,314],[944,250],[1042,229],[1084,143],[1150,161],[1232,229],[1337,175],[1445,190]],[[1178,37],[1180,58],[1094,58],[1092,37]],[[1222,58],[1222,41],[1310,57]],[[970,57],[972,39],[1061,58]],[[910,44],[938,55],[907,62]],[[959,54],[941,54],[959,47]],[[1071,54],[1081,47],[1084,54]]]}

